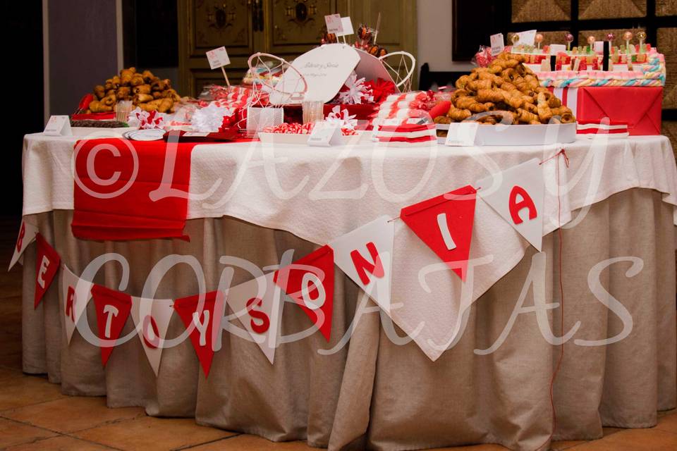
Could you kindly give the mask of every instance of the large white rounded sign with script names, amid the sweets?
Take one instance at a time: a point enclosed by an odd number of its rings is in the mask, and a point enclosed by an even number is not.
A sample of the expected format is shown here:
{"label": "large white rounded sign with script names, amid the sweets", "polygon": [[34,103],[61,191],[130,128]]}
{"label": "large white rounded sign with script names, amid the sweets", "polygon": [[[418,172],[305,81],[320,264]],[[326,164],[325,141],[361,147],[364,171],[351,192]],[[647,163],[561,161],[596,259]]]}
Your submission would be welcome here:
{"label": "large white rounded sign with script names, amid the sweets", "polygon": [[296,70],[285,70],[275,89],[270,93],[270,102],[274,105],[283,104],[290,101],[289,95],[282,94],[283,92],[298,92],[299,89],[303,89],[300,73],[307,84],[304,98],[327,103],[334,99],[359,61],[358,51],[346,44],[315,47],[292,63],[298,73]]}

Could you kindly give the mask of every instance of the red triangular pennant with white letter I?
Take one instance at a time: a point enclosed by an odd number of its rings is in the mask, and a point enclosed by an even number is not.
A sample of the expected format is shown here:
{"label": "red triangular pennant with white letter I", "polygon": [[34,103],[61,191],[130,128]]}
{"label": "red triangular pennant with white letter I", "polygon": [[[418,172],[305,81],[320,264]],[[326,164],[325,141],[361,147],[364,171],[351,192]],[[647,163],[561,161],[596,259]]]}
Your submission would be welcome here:
{"label": "red triangular pennant with white letter I", "polygon": [[475,218],[475,188],[468,185],[406,206],[400,218],[442,261],[465,280]]}

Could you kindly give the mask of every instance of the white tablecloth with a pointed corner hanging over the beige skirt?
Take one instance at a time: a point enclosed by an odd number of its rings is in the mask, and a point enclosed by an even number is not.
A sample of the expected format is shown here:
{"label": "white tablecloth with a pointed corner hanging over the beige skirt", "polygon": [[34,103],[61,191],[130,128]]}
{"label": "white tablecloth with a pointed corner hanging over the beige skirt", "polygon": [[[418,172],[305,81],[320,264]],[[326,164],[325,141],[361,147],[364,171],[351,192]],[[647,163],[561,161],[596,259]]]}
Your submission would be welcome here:
{"label": "white tablecloth with a pointed corner hanging over the beige skirt", "polygon": [[[73,209],[71,159],[73,144],[82,137],[25,137],[25,216]],[[474,185],[532,158],[547,159],[561,148],[571,166],[566,168],[560,157],[560,202],[556,159],[542,165],[544,235],[557,228],[558,216],[561,223],[575,225],[579,218],[572,218],[571,211],[633,187],[658,190],[664,202],[677,206],[677,168],[663,136],[544,147],[394,148],[368,143],[325,149],[242,143],[195,147],[188,218],[233,216],[323,245],[378,216],[396,218],[403,206]],[[470,252],[476,265],[463,284],[448,270],[435,271],[444,264],[401,221],[396,221],[395,233],[391,316],[433,360],[456,339],[469,305],[516,266],[528,246],[478,200]]]}

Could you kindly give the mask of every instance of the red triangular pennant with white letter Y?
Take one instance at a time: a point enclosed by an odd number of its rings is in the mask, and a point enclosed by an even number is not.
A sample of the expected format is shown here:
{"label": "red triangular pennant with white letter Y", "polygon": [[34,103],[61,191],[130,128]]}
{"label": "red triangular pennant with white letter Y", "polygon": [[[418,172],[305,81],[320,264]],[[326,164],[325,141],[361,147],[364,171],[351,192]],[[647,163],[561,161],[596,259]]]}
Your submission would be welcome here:
{"label": "red triangular pennant with white letter Y", "polygon": [[221,333],[224,309],[224,295],[220,291],[183,297],[174,301],[174,310],[181,316],[186,330],[190,330],[190,341],[193,342],[205,377],[209,376],[209,369],[212,367],[214,344],[216,335]]}

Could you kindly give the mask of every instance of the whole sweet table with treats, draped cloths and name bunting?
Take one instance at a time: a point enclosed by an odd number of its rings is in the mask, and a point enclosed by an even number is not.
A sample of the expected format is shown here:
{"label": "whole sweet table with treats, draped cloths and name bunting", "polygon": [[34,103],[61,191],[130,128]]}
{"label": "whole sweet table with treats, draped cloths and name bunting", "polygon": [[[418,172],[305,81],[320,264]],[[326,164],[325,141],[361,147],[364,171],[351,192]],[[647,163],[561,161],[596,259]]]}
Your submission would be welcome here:
{"label": "whole sweet table with treats, draped cloths and name bunting", "polygon": [[23,370],[330,450],[545,449],[675,408],[669,140],[581,121],[549,49],[401,92],[379,25],[198,99],[123,70],[81,107],[125,123],[26,135]]}

